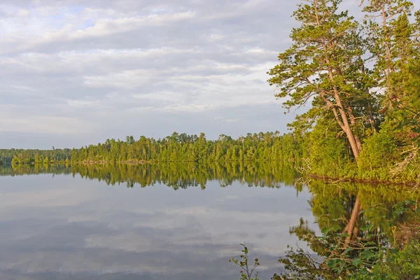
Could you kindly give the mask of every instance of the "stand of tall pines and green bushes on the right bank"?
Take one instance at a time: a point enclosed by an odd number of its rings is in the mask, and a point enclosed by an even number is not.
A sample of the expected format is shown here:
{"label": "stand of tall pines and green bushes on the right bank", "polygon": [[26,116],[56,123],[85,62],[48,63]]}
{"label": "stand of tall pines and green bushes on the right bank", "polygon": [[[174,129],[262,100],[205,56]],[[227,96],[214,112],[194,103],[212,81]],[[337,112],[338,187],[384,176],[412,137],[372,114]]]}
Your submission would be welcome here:
{"label": "stand of tall pines and green bushes on the right bank", "polygon": [[[420,11],[366,0],[364,22],[339,0],[299,3],[292,43],[268,73],[290,110],[308,174],[420,183]],[[373,62],[373,63],[372,63]]]}

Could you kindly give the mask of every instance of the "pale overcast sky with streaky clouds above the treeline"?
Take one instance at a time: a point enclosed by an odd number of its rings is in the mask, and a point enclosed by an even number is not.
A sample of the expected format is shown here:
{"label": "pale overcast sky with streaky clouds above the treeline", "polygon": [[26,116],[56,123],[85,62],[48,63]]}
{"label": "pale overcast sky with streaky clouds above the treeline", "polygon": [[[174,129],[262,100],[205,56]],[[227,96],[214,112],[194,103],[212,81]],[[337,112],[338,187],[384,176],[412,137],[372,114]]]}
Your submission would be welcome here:
{"label": "pale overcast sky with streaky clouds above the treeline", "polygon": [[296,3],[2,0],[0,148],[286,132],[267,71]]}

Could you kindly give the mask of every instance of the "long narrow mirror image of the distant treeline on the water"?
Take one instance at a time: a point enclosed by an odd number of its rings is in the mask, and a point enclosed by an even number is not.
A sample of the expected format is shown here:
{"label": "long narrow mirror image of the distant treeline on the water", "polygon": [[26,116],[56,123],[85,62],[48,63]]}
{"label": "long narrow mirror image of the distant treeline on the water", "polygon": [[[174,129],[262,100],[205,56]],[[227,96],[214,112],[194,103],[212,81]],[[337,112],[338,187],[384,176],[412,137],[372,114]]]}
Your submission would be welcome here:
{"label": "long narrow mirror image of the distant treeline on the water", "polygon": [[294,186],[295,172],[282,169],[272,162],[228,162],[196,164],[194,162],[170,162],[144,165],[103,164],[103,165],[12,165],[0,168],[0,175],[22,174],[80,174],[82,178],[98,179],[108,185],[125,183],[132,188],[153,186],[156,183],[174,189],[200,186],[205,188],[207,181],[219,181],[221,186],[232,182],[248,186],[279,188],[281,184]]}

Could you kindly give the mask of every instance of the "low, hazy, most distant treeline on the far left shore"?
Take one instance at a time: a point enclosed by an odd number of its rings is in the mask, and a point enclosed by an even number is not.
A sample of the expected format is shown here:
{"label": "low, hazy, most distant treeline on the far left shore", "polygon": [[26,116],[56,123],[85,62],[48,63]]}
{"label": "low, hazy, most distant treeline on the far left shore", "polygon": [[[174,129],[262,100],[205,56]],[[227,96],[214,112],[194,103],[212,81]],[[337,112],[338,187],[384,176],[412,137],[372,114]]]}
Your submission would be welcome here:
{"label": "low, hazy, most distant treeline on the far left shore", "polygon": [[0,149],[0,162],[13,164],[52,163],[70,160],[71,149],[24,150]]}

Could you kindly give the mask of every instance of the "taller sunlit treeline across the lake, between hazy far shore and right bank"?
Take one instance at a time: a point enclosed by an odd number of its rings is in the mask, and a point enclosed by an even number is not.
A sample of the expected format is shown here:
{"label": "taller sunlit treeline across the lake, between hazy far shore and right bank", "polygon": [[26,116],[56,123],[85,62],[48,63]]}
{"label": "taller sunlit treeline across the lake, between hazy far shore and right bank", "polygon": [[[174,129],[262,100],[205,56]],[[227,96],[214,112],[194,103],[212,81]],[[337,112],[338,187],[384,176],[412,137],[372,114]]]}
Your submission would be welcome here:
{"label": "taller sunlit treeline across the lake, between hazy far shore and right bank", "polygon": [[107,139],[104,144],[73,149],[73,162],[230,162],[273,161],[294,165],[302,158],[293,134],[266,132],[233,139],[221,135],[217,140],[174,132],[164,139],[127,137],[125,141]]}

